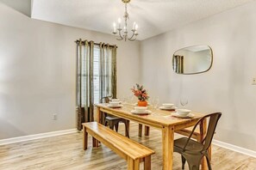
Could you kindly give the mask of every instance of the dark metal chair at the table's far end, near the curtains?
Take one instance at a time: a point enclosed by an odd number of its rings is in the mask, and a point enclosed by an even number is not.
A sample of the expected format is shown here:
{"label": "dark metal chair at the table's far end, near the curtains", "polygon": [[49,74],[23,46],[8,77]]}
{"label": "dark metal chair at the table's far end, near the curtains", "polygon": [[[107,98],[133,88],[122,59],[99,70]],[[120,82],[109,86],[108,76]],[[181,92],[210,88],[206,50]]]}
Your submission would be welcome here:
{"label": "dark metal chair at the table's far end, near the curtains", "polygon": [[[109,103],[109,98],[103,97],[101,99],[101,103],[103,102]],[[118,132],[119,123],[122,122],[125,125],[125,136],[129,138],[129,130],[128,130],[129,120],[104,113],[103,122],[105,126],[109,125],[109,128],[111,130],[114,130],[114,126],[115,126],[116,132]]]}

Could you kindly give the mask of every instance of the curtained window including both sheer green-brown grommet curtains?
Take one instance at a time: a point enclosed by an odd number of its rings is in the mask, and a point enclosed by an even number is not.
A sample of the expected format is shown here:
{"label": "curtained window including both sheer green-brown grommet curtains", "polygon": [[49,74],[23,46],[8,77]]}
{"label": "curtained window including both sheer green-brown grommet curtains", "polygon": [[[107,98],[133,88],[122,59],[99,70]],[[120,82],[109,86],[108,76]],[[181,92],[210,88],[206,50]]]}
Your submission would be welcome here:
{"label": "curtained window including both sheer green-brown grommet curtains", "polygon": [[94,121],[94,103],[116,97],[116,46],[81,39],[77,43],[77,128]]}

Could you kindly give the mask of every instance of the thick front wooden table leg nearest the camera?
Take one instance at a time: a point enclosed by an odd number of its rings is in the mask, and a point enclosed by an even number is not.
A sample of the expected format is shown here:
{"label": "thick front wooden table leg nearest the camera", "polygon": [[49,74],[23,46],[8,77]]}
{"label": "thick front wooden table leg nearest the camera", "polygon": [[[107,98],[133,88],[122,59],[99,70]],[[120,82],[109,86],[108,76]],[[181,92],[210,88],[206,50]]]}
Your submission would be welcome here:
{"label": "thick front wooden table leg nearest the camera", "polygon": [[164,126],[162,128],[163,169],[164,170],[172,170],[173,142],[174,142],[174,127]]}

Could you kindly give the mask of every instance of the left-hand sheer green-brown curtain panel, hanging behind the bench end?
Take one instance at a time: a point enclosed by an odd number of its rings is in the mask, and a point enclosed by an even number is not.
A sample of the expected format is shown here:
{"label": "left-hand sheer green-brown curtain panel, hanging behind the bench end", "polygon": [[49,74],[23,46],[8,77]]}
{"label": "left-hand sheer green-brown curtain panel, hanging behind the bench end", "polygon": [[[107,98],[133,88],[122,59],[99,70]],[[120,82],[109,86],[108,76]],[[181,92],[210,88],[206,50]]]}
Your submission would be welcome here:
{"label": "left-hand sheer green-brown curtain panel, hanging behind the bench end", "polygon": [[80,39],[77,43],[77,128],[79,131],[82,130],[82,123],[94,120],[93,48],[93,41]]}

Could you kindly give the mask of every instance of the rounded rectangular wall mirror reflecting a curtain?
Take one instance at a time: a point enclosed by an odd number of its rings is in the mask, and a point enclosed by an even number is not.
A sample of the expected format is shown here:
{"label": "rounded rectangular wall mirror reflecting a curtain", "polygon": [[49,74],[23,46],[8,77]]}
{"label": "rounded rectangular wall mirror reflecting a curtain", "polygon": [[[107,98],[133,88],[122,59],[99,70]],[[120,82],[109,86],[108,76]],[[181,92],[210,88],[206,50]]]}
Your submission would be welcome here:
{"label": "rounded rectangular wall mirror reflecting a curtain", "polygon": [[209,46],[189,46],[174,52],[172,68],[178,74],[190,75],[208,71],[213,55]]}

